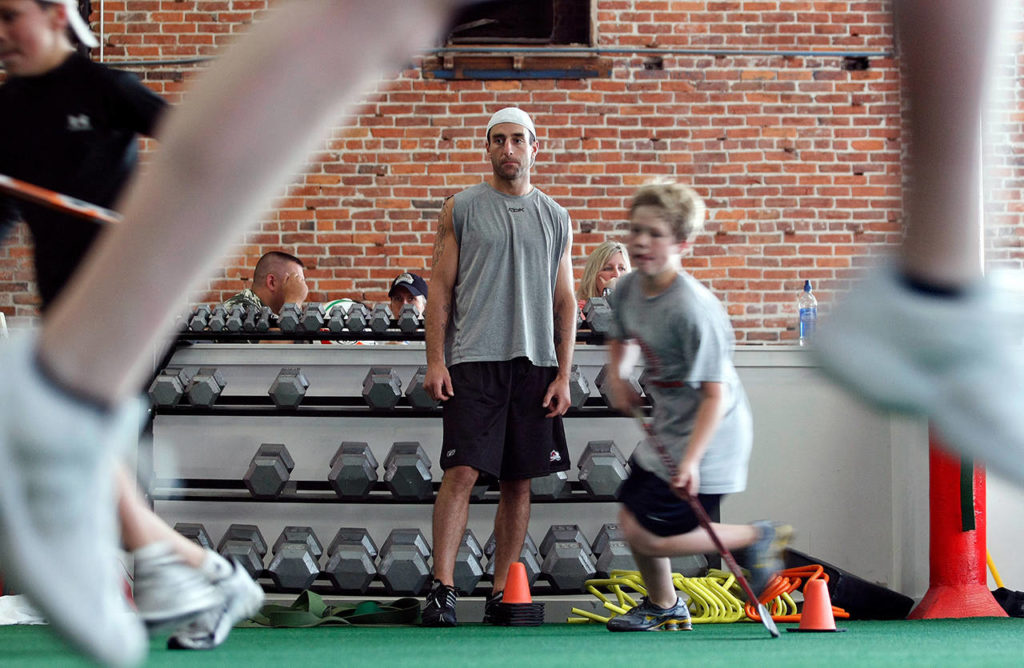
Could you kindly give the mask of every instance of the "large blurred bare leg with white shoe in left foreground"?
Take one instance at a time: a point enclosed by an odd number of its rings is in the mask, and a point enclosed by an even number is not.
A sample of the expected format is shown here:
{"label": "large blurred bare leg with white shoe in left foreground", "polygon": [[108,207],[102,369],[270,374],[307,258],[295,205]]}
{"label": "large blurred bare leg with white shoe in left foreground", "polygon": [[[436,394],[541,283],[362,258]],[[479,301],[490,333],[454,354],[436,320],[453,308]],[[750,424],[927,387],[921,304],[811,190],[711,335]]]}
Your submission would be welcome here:
{"label": "large blurred bare leg with white shoe in left foreground", "polygon": [[[109,555],[120,544],[112,521],[117,508],[111,462],[137,440],[142,411],[136,394],[152,373],[154,346],[170,333],[182,296],[255,222],[269,193],[299,170],[314,139],[339,114],[355,109],[377,75],[400,69],[417,48],[432,44],[462,1],[291,2],[287,11],[257,22],[167,115],[153,171],[135,181],[123,202],[124,224],[103,235],[38,331],[0,345],[4,577],[19,585],[51,628],[96,663],[137,665],[150,648],[138,618],[122,614],[120,567]],[[23,18],[11,7],[35,22],[41,8],[53,18],[62,5],[0,0],[5,66],[24,59],[10,42],[12,20]],[[70,42],[68,24],[49,23],[47,30]],[[268,61],[274,67],[258,67]],[[10,68],[6,74],[0,88],[15,77],[29,78]],[[75,94],[65,90],[62,99],[95,92],[91,81],[77,83]],[[73,129],[96,120],[60,114],[61,98],[26,99]],[[0,159],[37,139],[31,131],[23,134],[13,145],[3,135]],[[25,153],[42,158],[45,148],[37,143]],[[89,167],[89,174],[109,176],[109,169]],[[125,310],[125,304],[132,307]],[[77,315],[79,308],[85,315]],[[65,484],[54,486],[54,479]],[[43,489],[47,494],[36,493]],[[136,577],[137,568],[136,561]],[[178,638],[175,646],[197,649],[223,642],[239,615],[256,612],[248,612],[249,603],[261,599],[262,590],[253,586],[256,596],[223,598],[213,614],[200,616],[169,642]]]}

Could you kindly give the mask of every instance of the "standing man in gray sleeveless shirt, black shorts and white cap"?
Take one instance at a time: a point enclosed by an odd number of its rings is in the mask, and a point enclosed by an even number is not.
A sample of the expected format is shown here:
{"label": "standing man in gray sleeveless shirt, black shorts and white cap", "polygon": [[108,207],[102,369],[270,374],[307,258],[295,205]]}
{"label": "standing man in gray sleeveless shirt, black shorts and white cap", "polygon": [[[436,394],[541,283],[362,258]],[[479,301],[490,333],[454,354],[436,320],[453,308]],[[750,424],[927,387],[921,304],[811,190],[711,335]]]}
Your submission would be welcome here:
{"label": "standing man in gray sleeveless shirt, black shorts and white cap", "polygon": [[444,477],[426,626],[456,625],[455,559],[478,478],[501,488],[487,622],[522,549],[529,479],[569,467],[561,422],[575,338],[569,215],[530,184],[538,142],[524,112],[490,117],[486,151],[494,174],[444,202],[434,242],[424,384],[444,402]]}

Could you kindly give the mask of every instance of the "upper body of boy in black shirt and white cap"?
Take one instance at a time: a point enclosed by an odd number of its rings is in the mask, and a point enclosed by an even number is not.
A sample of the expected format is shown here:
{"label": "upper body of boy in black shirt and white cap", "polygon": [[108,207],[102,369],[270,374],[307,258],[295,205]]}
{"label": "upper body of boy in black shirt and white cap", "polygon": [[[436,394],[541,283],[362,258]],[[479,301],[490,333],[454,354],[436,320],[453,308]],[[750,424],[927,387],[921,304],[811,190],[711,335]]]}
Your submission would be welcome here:
{"label": "upper body of boy in black shirt and white cap", "polygon": [[[137,163],[138,136],[154,136],[167,103],[134,74],[78,53],[97,44],[74,0],[2,0],[0,173],[113,208]],[[47,310],[100,226],[41,206],[0,199],[5,224],[32,232],[36,282]]]}

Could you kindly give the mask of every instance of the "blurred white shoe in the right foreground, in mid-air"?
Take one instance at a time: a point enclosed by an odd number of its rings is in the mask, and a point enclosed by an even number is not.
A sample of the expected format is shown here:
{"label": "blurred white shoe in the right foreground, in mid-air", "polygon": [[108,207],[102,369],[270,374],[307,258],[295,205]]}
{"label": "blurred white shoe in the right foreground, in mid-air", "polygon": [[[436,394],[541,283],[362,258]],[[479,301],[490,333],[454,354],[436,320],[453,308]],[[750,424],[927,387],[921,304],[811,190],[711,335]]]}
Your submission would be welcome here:
{"label": "blurred white shoe in the right foreground, in mid-air", "polygon": [[861,398],[927,415],[950,448],[1024,483],[1019,301],[989,281],[932,296],[878,270],[822,320],[814,347]]}

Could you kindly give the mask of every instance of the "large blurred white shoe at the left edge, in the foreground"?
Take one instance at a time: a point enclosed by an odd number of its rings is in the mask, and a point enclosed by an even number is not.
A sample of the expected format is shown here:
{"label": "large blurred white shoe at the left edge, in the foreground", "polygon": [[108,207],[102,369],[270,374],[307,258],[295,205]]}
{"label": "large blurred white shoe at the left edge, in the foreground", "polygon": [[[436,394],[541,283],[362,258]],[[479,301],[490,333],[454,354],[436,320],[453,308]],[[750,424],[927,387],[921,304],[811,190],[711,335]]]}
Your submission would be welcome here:
{"label": "large blurred white shoe at the left edge, in the foreground", "polygon": [[102,411],[42,376],[35,336],[0,342],[0,562],[69,643],[113,666],[145,658],[118,566],[114,455],[140,402]]}

